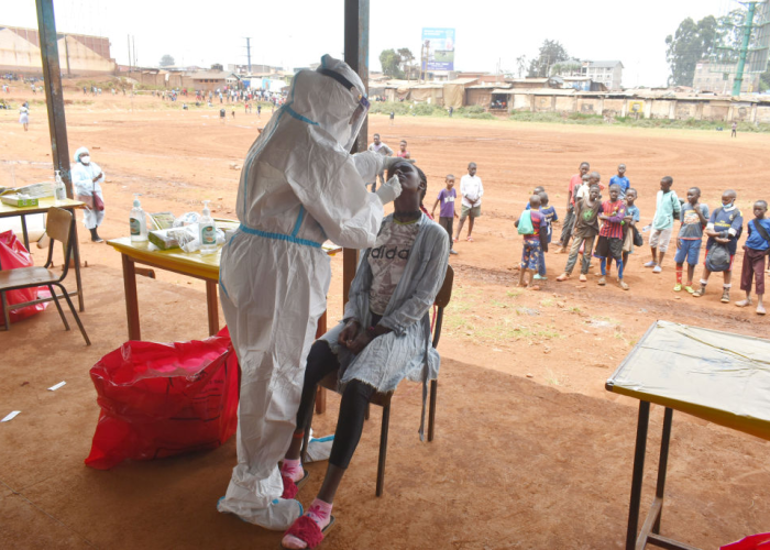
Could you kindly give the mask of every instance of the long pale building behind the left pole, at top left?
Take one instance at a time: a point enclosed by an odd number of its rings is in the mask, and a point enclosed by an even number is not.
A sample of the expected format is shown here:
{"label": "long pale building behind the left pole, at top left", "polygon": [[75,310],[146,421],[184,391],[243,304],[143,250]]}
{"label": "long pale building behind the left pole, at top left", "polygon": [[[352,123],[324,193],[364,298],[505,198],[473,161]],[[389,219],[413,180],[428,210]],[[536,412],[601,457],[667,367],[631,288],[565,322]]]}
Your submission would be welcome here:
{"label": "long pale building behind the left pole, at top left", "polygon": [[[114,74],[110,40],[105,36],[57,33],[62,74]],[[43,74],[40,35],[36,29],[0,25],[0,70]]]}

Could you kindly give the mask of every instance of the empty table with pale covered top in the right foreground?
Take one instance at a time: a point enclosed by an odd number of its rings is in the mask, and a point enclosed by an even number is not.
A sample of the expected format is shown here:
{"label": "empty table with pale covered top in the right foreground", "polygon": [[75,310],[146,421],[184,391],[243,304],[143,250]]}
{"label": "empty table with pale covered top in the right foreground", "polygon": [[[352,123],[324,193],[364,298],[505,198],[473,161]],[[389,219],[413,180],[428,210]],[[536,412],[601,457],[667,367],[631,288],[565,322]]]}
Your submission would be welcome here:
{"label": "empty table with pale covered top in the right foreground", "polygon": [[[768,356],[768,340],[657,321],[607,381],[607,391],[639,399],[626,550],[696,550],[660,535],[673,411],[770,440]],[[651,403],[666,407],[658,484],[637,534]]]}

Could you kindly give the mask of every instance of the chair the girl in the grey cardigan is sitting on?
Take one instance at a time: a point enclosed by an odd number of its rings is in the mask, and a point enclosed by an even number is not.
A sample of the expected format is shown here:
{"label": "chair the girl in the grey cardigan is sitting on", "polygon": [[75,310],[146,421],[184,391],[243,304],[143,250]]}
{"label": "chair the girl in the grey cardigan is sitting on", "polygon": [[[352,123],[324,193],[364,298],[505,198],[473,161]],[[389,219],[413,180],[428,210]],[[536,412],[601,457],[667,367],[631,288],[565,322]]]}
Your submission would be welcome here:
{"label": "chair the girl in the grey cardigan is sitting on", "polygon": [[[436,295],[436,300],[433,305],[438,308],[436,314],[436,326],[433,328],[433,348],[439,345],[439,339],[441,338],[441,324],[443,322],[443,310],[449,304],[452,297],[452,284],[454,282],[454,271],[452,266],[447,266],[447,275],[443,279],[443,285],[439,294]],[[337,393],[337,382],[338,373],[331,373],[321,380],[320,385],[327,389]],[[383,495],[383,490],[385,488],[385,458],[387,455],[387,433],[391,424],[391,399],[395,392],[388,393],[375,393],[370,399],[370,404],[378,405],[383,408],[383,421],[382,428],[380,430],[380,458],[377,459],[377,487],[375,494],[377,496]],[[428,441],[433,440],[435,426],[436,426],[436,399],[438,395],[438,381],[430,381],[430,407],[428,411]],[[315,407],[314,407],[315,408]],[[366,408],[366,419],[369,420],[369,406]],[[308,439],[310,435],[310,427],[312,425],[312,416],[310,417],[308,426],[305,427],[305,440],[302,442],[302,462],[305,462]]]}

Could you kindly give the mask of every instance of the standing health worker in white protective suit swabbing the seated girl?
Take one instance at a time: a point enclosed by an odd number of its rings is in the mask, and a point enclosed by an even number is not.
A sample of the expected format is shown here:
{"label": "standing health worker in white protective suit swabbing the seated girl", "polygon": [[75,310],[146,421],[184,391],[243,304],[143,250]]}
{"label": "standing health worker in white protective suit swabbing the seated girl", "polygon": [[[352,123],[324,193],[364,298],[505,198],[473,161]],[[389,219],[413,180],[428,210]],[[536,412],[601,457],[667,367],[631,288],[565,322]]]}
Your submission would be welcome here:
{"label": "standing health worker in white protective suit swabbing the seated girl", "polygon": [[365,187],[397,157],[349,153],[367,111],[364,86],[345,63],[324,55],[317,70],[298,73],[249,150],[241,227],[222,249],[220,297],[241,365],[241,400],[238,465],[217,508],[268,529],[287,529],[302,514],[298,501],[282,498],[278,461],[326,310],[331,268],[321,243],[372,246],[383,205],[400,194],[397,178],[377,194]]}

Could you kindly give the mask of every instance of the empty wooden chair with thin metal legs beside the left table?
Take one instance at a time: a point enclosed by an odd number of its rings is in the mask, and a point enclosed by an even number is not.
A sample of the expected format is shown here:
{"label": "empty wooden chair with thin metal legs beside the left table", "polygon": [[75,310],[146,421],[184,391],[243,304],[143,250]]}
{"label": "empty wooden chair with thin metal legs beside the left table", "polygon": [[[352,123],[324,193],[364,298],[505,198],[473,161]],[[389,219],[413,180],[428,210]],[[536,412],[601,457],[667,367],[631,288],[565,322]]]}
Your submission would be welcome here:
{"label": "empty wooden chair with thin metal legs beside the left table", "polygon": [[[57,286],[62,289],[61,296],[64,296],[64,299],[67,300],[69,310],[73,312],[73,317],[75,317],[75,321],[80,329],[80,333],[82,333],[82,338],[86,339],[86,345],[91,345],[91,341],[88,340],[88,334],[86,334],[86,329],[82,328],[80,318],[73,306],[73,301],[69,299],[69,294],[67,293],[67,289],[64,288],[64,285],[62,285],[62,282],[67,277],[67,272],[69,271],[69,258],[73,255],[73,223],[75,223],[75,220],[72,212],[61,208],[51,208],[48,210],[48,219],[45,230],[46,234],[51,238],[51,242],[48,243],[48,260],[45,265],[43,267],[20,267],[16,270],[0,272],[0,296],[2,297],[2,309],[6,317],[6,330],[11,330],[11,309],[18,309],[42,301],[25,301],[23,304],[14,304],[9,306],[8,300],[6,299],[6,293],[8,290],[19,290],[21,288],[37,286],[48,287],[48,290],[51,290],[51,296],[56,304],[56,309],[58,309],[58,315],[62,317],[62,321],[64,322],[64,328],[69,330],[69,323],[67,322],[67,318],[64,317],[62,305],[58,301],[59,296],[57,296],[54,292],[54,286]],[[59,241],[64,245],[64,268],[62,270],[61,275],[57,275],[50,270],[50,267],[53,266],[55,241]]]}

